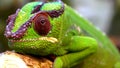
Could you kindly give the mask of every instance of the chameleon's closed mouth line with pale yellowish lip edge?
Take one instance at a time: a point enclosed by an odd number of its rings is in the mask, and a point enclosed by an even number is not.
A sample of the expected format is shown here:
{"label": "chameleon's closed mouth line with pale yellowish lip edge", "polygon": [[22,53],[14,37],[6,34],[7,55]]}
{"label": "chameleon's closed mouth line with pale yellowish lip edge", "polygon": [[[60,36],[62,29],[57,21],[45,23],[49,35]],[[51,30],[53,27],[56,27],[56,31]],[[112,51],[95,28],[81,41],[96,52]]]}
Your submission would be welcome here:
{"label": "chameleon's closed mouth line with pale yellowish lip edge", "polygon": [[58,42],[58,39],[54,38],[54,37],[40,37],[40,38],[33,38],[33,39],[20,39],[20,40],[9,40],[10,42],[35,42],[38,40],[44,40],[44,41],[48,41],[51,43],[56,43]]}

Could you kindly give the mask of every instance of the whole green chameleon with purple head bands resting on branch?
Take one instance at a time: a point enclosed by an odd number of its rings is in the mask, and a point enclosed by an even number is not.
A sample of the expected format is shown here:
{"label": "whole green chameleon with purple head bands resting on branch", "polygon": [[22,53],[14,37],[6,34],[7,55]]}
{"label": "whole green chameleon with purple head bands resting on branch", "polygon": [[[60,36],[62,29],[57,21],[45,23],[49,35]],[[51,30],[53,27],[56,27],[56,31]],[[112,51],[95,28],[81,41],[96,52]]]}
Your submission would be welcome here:
{"label": "whole green chameleon with purple head bands resting on branch", "polygon": [[61,0],[28,3],[7,22],[9,47],[54,55],[53,68],[120,68],[119,52],[106,35]]}

